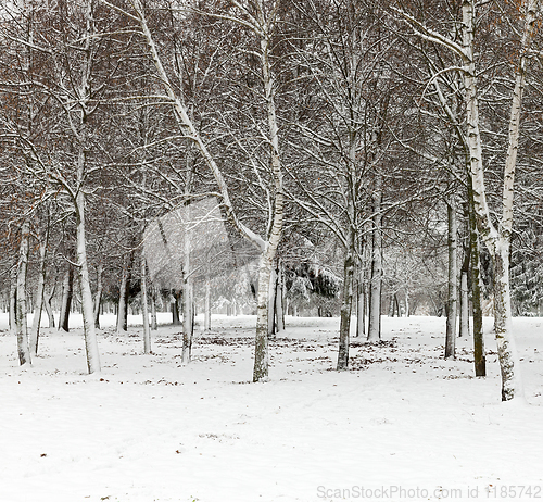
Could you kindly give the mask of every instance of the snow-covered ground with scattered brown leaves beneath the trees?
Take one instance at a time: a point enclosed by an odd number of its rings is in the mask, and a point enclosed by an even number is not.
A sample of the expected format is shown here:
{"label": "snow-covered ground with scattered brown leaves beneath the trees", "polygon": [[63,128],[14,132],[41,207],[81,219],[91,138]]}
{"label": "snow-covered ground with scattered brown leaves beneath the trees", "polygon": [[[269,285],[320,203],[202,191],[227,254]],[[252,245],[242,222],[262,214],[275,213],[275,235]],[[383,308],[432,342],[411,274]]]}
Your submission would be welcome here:
{"label": "snow-covered ground with scattered brown leaves beneath the trees", "polygon": [[254,317],[214,316],[188,366],[179,327],[143,355],[129,321],[125,337],[102,318],[88,376],[80,329],[45,329],[21,369],[0,317],[1,502],[543,499],[543,318],[514,321],[527,404],[500,402],[491,319],[476,379],[471,342],[443,361],[443,318],[383,317],[338,373],[339,319],[289,317],[265,384]]}

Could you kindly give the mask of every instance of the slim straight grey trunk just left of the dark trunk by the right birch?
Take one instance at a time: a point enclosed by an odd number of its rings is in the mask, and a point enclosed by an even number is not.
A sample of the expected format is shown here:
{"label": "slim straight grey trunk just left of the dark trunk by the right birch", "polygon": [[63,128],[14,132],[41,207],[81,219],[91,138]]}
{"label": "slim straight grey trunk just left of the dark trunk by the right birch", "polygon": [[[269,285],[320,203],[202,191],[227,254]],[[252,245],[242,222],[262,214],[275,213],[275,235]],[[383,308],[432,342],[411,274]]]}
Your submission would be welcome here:
{"label": "slim straight grey trunk just left of the dark trunk by the right birch", "polygon": [[447,248],[449,248],[449,296],[446,313],[446,335],[445,335],[445,359],[456,359],[456,306],[458,302],[457,291],[457,264],[456,264],[456,211],[451,200],[447,211]]}

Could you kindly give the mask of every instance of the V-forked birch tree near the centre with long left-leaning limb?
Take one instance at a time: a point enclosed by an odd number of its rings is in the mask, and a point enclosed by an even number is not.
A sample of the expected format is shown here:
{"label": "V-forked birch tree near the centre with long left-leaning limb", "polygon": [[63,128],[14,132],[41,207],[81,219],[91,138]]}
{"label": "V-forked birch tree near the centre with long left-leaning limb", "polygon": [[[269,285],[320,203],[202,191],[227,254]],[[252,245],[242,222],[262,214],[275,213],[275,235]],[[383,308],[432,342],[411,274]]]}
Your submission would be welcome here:
{"label": "V-forked birch tree near the centre with long left-leaning limb", "polygon": [[[112,4],[103,1],[112,8]],[[164,99],[171,103],[175,118],[182,134],[189,138],[203,161],[211,170],[218,186],[222,197],[222,205],[236,228],[261,251],[261,265],[257,292],[257,321],[255,336],[255,360],[253,379],[264,380],[268,377],[268,292],[269,278],[274,258],[281,238],[283,215],[283,187],[282,187],[282,163],[279,141],[279,127],[276,115],[276,85],[273,70],[274,34],[279,22],[279,2],[257,0],[256,2],[232,1],[229,10],[214,11],[213,9],[193,11],[195,15],[209,15],[225,23],[235,23],[239,29],[247,29],[255,37],[256,46],[252,49],[257,58],[261,68],[262,98],[266,114],[266,129],[262,129],[262,140],[267,147],[269,159],[269,194],[270,205],[266,209],[268,227],[264,236],[250,229],[240,219],[230,199],[228,184],[213,154],[207,140],[200,134],[190,117],[189,110],[184,102],[182,95],[176,91],[175,83],[172,80],[164,66],[165,54],[161,54],[156,43],[156,34],[149,24],[149,9],[139,0],[134,0],[131,5],[123,10],[124,14],[139,25],[141,34],[146,39],[150,57],[155,66],[156,76],[163,85]],[[115,8],[118,9],[118,8]],[[169,11],[169,7],[167,9]],[[265,131],[266,130],[266,131]],[[256,152],[255,152],[256,154]],[[254,164],[260,163],[260,152],[253,158]]]}

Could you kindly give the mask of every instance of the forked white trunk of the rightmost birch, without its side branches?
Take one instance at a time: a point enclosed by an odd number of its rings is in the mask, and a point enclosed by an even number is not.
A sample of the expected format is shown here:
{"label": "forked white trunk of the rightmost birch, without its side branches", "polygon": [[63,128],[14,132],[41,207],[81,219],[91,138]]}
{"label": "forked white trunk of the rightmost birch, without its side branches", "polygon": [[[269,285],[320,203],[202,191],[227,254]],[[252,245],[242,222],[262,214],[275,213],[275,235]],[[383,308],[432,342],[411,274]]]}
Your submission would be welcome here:
{"label": "forked white trunk of the rightmost birch, without its side branches", "polygon": [[523,398],[523,386],[519,372],[519,359],[515,348],[512,329],[512,312],[509,296],[509,261],[508,251],[513,227],[514,179],[520,134],[520,114],[529,49],[533,39],[539,0],[526,2],[525,25],[520,55],[515,74],[515,88],[512,96],[509,116],[508,147],[504,167],[503,213],[500,233],[494,228],[485,196],[484,174],[482,165],[481,135],[479,129],[479,106],[477,100],[477,79],[475,64],[473,34],[476,26],[476,1],[465,0],[463,3],[463,45],[466,88],[466,113],[468,124],[468,143],[470,150],[470,172],[473,183],[473,206],[477,215],[480,237],[493,259],[494,265],[494,315],[495,335],[502,371],[502,400]]}

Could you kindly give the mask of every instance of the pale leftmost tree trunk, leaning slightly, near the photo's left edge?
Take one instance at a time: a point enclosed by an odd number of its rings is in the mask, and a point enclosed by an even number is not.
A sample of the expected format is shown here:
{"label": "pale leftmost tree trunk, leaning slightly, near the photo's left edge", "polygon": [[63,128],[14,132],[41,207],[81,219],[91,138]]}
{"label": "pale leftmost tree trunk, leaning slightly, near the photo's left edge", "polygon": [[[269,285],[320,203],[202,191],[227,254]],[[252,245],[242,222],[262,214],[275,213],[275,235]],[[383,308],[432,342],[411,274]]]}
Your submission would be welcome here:
{"label": "pale leftmost tree trunk, leaning slightly, near the photo's left edge", "polygon": [[21,366],[31,364],[26,315],[26,274],[28,269],[29,234],[30,224],[26,221],[21,227],[21,243],[17,263],[17,301],[15,306],[15,331],[17,335],[17,352]]}

